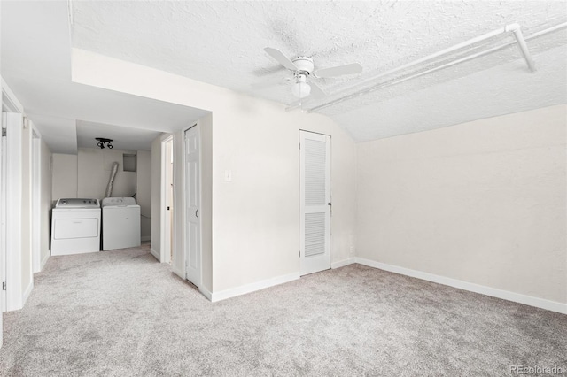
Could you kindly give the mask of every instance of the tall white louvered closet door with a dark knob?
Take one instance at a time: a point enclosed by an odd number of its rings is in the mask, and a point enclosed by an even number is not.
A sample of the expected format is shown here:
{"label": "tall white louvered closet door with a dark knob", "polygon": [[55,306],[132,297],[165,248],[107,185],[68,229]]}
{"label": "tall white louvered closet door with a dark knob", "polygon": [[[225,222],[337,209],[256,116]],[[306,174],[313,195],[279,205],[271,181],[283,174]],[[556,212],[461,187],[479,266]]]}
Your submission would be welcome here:
{"label": "tall white louvered closet door with a dark knob", "polygon": [[330,268],[330,136],[299,131],[301,275]]}

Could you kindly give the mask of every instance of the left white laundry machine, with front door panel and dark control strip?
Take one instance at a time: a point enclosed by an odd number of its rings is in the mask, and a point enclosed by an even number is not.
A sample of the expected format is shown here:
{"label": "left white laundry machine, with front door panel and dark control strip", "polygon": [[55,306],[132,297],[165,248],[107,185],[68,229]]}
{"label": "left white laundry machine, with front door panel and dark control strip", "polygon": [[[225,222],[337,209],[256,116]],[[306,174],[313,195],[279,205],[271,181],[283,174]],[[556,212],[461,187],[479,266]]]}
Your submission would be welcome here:
{"label": "left white laundry machine, with front door panel and dark control strip", "polygon": [[58,199],[51,212],[51,255],[100,250],[98,199]]}

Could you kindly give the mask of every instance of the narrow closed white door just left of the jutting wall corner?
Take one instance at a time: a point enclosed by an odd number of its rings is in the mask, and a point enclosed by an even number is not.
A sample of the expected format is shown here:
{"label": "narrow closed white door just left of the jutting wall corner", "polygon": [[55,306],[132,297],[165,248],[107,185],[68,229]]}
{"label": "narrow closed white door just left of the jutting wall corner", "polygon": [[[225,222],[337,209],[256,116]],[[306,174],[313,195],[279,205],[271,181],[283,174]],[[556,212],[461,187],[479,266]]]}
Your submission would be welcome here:
{"label": "narrow closed white door just left of the jutting wall corner", "polygon": [[185,273],[188,281],[200,285],[201,219],[198,126],[185,131]]}

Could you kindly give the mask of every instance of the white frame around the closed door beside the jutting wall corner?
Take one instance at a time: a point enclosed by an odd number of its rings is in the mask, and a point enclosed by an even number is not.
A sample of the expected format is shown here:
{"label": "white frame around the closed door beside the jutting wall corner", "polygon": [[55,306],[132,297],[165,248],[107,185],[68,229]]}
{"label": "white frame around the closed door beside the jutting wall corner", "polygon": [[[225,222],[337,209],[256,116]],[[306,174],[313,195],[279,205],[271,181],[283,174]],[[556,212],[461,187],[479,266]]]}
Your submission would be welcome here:
{"label": "white frame around the closed door beside the jutting wall corner", "polygon": [[[188,238],[189,235],[187,234],[187,193],[189,192],[188,187],[187,187],[187,143],[185,142],[185,134],[187,133],[187,131],[189,131],[191,128],[196,128],[197,129],[197,133],[198,133],[198,184],[199,184],[199,188],[198,188],[198,209],[200,210],[203,205],[202,205],[202,186],[203,186],[203,177],[202,177],[202,173],[203,173],[203,169],[202,169],[202,160],[203,160],[203,150],[201,148],[202,142],[201,142],[201,128],[197,123],[193,124],[190,127],[187,127],[185,129],[183,129],[183,276],[184,279],[189,281],[187,279],[187,261],[189,260],[189,253],[190,253],[190,248],[189,245],[190,243],[188,242]],[[175,200],[175,199],[174,199]],[[178,203],[178,202],[175,202]],[[203,286],[203,226],[202,226],[202,222],[200,220],[201,218],[199,217],[199,227],[198,227],[198,281],[197,284],[195,284],[197,286],[197,288],[201,288]]]}

